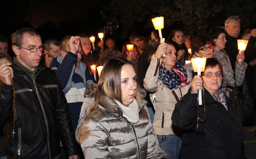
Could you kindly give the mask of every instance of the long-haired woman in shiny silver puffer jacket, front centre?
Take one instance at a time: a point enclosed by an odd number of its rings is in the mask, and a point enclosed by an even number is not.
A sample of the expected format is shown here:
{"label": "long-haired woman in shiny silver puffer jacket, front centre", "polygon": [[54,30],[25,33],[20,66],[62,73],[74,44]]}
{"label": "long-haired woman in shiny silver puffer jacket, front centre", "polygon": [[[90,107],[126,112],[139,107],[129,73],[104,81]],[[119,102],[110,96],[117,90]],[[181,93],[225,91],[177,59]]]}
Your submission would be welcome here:
{"label": "long-haired woman in shiny silver puffer jacket, front centre", "polygon": [[94,105],[80,131],[85,158],[159,158],[135,70],[124,59],[111,59],[103,67]]}

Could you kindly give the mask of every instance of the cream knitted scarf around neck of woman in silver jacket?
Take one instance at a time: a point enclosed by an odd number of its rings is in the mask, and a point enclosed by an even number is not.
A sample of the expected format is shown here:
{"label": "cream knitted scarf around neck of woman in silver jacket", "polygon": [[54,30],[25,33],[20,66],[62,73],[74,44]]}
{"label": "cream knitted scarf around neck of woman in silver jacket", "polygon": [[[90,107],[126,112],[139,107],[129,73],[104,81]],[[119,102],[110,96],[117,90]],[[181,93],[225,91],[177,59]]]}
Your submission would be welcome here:
{"label": "cream knitted scarf around neck of woman in silver jacket", "polygon": [[135,124],[139,121],[139,105],[137,101],[133,100],[131,104],[128,106],[125,106],[121,104],[119,101],[115,100],[114,101],[120,106],[123,116],[131,123]]}

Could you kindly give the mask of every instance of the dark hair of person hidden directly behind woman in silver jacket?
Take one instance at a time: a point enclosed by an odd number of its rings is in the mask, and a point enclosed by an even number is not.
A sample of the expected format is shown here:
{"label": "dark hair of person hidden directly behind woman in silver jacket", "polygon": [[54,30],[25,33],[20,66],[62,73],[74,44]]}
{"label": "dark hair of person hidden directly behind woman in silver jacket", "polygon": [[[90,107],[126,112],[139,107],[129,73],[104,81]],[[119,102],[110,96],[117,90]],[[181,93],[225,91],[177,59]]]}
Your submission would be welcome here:
{"label": "dark hair of person hidden directly behind woman in silver jacket", "polygon": [[105,49],[102,54],[100,54],[99,60],[97,61],[97,66],[103,66],[106,61],[112,59],[112,58],[126,58],[126,56],[116,50],[113,49]]}

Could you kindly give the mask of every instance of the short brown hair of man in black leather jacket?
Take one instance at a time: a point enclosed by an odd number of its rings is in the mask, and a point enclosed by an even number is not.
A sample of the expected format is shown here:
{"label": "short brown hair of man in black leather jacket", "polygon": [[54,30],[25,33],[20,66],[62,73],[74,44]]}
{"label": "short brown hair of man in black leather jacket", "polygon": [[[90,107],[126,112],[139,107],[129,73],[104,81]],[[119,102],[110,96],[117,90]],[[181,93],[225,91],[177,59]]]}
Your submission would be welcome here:
{"label": "short brown hair of man in black leather jacket", "polygon": [[40,37],[39,33],[37,31],[35,31],[34,29],[21,28],[11,34],[12,45],[16,45],[18,47],[22,46],[23,45],[23,35],[26,33],[33,37],[35,37],[35,36]]}

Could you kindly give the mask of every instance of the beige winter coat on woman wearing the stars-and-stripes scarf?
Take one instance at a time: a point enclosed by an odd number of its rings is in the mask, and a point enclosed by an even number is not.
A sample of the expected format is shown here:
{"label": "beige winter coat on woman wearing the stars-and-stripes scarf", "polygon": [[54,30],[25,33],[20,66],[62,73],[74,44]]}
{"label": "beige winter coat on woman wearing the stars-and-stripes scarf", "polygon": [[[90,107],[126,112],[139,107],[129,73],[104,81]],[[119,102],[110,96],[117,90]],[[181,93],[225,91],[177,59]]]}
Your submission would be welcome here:
{"label": "beige winter coat on woman wearing the stars-and-stripes scarf", "polygon": [[[162,59],[160,59],[160,63]],[[167,86],[162,85],[158,88],[156,98],[153,100],[153,96],[156,93],[156,89],[160,84],[160,80],[158,80],[159,76],[159,69],[157,70],[156,76],[155,70],[157,68],[157,58],[153,55],[150,66],[147,69],[146,76],[144,78],[144,88],[146,91],[150,92],[150,99],[154,105],[155,109],[155,116],[153,126],[155,128],[155,132],[157,135],[173,135],[179,134],[180,132],[173,128],[172,125],[172,112],[174,110],[175,104],[177,103],[173,93]],[[184,96],[190,84],[181,88],[181,89],[174,89],[176,95],[179,99]]]}

